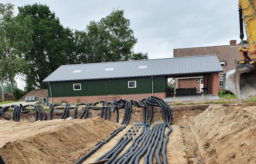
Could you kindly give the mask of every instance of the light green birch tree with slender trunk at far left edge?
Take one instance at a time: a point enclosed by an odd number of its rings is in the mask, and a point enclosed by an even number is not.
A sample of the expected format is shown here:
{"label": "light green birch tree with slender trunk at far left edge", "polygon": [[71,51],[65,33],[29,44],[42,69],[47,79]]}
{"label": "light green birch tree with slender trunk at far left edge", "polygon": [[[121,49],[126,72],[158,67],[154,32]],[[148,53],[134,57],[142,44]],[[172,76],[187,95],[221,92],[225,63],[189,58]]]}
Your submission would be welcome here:
{"label": "light green birch tree with slender trunk at far left edge", "polygon": [[[15,76],[24,71],[27,63],[23,59],[32,46],[31,18],[14,17],[14,5],[0,3],[0,65],[1,74],[7,77],[13,94]],[[4,69],[3,69],[4,68]]]}

